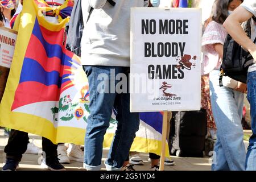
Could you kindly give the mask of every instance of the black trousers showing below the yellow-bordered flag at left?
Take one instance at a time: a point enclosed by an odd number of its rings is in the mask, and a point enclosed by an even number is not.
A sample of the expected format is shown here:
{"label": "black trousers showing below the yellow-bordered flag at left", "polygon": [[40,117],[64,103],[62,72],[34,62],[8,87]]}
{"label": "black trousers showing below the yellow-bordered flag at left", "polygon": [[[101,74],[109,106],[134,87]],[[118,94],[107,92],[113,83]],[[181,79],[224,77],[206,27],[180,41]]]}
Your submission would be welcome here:
{"label": "black trousers showing below the yellow-bordered flag at left", "polygon": [[[13,158],[20,161],[22,155],[27,150],[28,139],[28,133],[12,129],[8,143],[5,146],[6,158]],[[57,144],[53,144],[51,140],[42,137],[42,147],[47,159],[57,158]]]}

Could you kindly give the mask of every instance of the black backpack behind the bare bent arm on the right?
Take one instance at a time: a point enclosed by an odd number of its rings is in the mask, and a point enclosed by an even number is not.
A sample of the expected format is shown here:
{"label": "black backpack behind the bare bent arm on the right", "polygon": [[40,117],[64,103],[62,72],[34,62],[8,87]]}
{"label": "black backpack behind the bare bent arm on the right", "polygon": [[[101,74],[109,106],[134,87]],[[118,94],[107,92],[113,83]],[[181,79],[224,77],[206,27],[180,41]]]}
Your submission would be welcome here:
{"label": "black backpack behind the bare bent arm on the right", "polygon": [[[251,19],[249,19],[245,26],[245,32],[249,38],[251,37]],[[254,43],[256,42],[256,38]],[[250,65],[253,65],[254,59],[249,51],[245,51],[232,36],[228,35],[224,43],[223,59],[221,64],[220,86],[222,84],[222,77],[228,76],[234,80],[246,84],[247,70]]]}

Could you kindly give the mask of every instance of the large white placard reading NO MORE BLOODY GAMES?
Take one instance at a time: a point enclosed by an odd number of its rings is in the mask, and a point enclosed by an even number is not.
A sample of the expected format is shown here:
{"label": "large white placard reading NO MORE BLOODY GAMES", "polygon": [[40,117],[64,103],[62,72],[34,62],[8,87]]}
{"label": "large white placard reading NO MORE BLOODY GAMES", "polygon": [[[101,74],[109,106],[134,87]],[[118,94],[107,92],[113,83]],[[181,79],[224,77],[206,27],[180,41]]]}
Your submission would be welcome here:
{"label": "large white placard reading NO MORE BLOODY GAMES", "polygon": [[200,110],[201,9],[131,9],[130,111]]}

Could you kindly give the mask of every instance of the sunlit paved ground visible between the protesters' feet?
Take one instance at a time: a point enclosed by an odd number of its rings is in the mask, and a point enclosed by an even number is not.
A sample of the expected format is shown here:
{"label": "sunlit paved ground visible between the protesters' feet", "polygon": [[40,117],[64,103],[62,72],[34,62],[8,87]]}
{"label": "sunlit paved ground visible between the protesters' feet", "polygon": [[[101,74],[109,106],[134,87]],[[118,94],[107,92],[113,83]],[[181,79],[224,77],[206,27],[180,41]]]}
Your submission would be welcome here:
{"label": "sunlit paved ground visible between the protesters' feet", "polygon": [[[42,140],[41,137],[36,135],[30,135],[30,140],[34,139],[34,143],[38,147],[42,147]],[[2,169],[3,164],[5,163],[5,153],[3,152],[3,148],[7,143],[8,138],[3,136],[3,130],[0,130],[0,170]],[[102,158],[102,162],[106,159],[108,154],[108,150],[104,150],[104,156]],[[142,159],[144,160],[143,166],[135,166],[134,168],[138,171],[147,171],[150,169],[150,162],[148,162],[148,155],[142,154]],[[175,160],[175,166],[165,166],[164,170],[166,171],[209,171],[210,164],[209,158],[178,158],[176,156],[172,157]],[[34,171],[34,170],[42,170],[40,168],[40,155],[33,155],[33,154],[24,154],[22,161],[20,162],[20,169]],[[82,168],[82,163],[79,162],[71,162],[70,164],[64,164],[67,170],[84,170]],[[105,167],[102,165],[102,167]],[[105,168],[102,168],[105,170]]]}

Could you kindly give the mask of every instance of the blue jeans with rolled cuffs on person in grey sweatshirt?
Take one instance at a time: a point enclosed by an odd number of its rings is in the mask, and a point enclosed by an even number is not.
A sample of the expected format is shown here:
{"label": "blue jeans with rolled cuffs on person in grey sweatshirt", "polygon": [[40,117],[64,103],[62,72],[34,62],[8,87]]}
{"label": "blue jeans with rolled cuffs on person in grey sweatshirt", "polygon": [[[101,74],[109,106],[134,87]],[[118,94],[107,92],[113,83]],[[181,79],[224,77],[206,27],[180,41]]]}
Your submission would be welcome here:
{"label": "blue jeans with rolled cuffs on person in grey sweatshirt", "polygon": [[[135,133],[139,129],[139,113],[130,113],[129,92],[117,93],[115,90],[115,86],[119,82],[115,79],[118,73],[125,73],[128,85],[130,68],[86,66],[84,69],[89,81],[90,94],[90,115],[85,135],[84,166],[87,170],[98,171],[101,169],[104,135],[109,127],[114,108],[117,111],[117,130],[110,146],[108,159],[105,160],[105,166],[107,170],[119,170],[129,155]],[[101,77],[99,80],[99,75],[105,77]],[[102,84],[102,80],[106,82]],[[123,85],[123,87],[127,85]],[[100,92],[98,92],[99,90]],[[102,93],[103,90],[106,92]]]}

